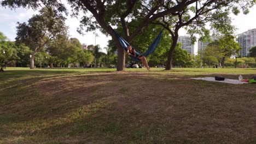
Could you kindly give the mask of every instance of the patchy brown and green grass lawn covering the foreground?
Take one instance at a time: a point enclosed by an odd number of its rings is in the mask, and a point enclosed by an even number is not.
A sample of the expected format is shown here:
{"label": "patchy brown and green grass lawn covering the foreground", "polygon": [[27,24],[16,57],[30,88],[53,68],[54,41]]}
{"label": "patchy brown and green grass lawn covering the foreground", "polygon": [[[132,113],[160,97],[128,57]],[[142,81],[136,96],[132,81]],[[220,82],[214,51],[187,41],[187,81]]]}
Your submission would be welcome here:
{"label": "patchy brown and green grass lawn covering the foreground", "polygon": [[256,143],[256,69],[0,73],[0,143]]}

